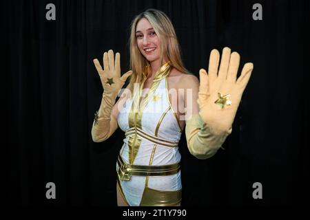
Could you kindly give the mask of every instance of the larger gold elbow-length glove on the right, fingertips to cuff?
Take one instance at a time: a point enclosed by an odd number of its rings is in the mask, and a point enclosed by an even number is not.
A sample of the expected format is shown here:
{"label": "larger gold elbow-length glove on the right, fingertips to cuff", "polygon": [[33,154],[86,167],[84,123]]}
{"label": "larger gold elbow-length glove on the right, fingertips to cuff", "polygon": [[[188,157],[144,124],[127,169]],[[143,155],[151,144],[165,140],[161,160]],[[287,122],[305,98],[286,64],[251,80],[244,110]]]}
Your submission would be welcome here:
{"label": "larger gold elbow-length glove on the right, fingertips to cuff", "polygon": [[246,63],[237,78],[240,56],[223,49],[220,68],[220,53],[212,50],[209,58],[209,74],[200,69],[198,92],[199,113],[187,121],[185,133],[190,153],[198,159],[214,155],[232,131],[232,124],[243,91],[249,82],[253,63]]}

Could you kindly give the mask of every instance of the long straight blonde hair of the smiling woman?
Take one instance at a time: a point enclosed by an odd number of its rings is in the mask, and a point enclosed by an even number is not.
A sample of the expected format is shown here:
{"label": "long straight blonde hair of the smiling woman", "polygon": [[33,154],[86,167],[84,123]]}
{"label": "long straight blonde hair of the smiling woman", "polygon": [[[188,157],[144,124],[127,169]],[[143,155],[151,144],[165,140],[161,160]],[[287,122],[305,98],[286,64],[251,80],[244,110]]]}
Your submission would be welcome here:
{"label": "long straight blonde hair of the smiling woman", "polygon": [[[172,67],[185,74],[189,74],[184,67],[180,57],[180,46],[176,38],[176,32],[172,22],[164,12],[156,9],[148,9],[141,14],[138,14],[131,25],[130,33],[130,69],[132,75],[130,76],[130,85],[128,88],[133,94],[134,83],[143,83],[143,71],[149,65],[149,61],[141,54],[136,42],[136,25],[141,19],[147,19],[151,23],[161,43],[161,66],[164,64],[164,55],[167,55],[168,61]],[[140,85],[140,84],[139,84]]]}

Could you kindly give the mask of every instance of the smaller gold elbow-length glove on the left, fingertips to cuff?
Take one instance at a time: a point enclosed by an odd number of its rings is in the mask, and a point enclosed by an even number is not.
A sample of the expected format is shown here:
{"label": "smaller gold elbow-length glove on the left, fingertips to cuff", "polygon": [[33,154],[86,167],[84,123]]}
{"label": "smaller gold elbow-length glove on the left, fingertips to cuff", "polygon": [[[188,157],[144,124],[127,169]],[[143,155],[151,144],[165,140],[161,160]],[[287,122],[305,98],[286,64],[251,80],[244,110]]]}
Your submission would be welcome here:
{"label": "smaller gold elbow-length glove on the left, fingertips to cuff", "polygon": [[116,53],[114,63],[114,53],[112,50],[103,54],[103,68],[98,59],[94,59],[94,65],[100,76],[103,85],[103,97],[99,111],[96,112],[92,124],[92,140],[103,142],[107,140],[117,129],[117,121],[111,115],[112,108],[116,102],[118,92],[121,90],[127,77],[132,74],[129,71],[121,76],[120,54]]}

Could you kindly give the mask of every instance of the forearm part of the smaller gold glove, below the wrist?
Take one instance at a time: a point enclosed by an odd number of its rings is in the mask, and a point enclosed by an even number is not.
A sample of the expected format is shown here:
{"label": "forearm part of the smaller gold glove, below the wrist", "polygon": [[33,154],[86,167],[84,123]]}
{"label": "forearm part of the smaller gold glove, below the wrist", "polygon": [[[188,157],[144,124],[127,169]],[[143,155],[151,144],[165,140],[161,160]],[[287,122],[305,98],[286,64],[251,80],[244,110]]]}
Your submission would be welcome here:
{"label": "forearm part of the smaller gold glove, below the wrist", "polygon": [[98,115],[92,124],[92,140],[103,142],[117,129],[117,120],[111,115],[116,98],[103,94]]}

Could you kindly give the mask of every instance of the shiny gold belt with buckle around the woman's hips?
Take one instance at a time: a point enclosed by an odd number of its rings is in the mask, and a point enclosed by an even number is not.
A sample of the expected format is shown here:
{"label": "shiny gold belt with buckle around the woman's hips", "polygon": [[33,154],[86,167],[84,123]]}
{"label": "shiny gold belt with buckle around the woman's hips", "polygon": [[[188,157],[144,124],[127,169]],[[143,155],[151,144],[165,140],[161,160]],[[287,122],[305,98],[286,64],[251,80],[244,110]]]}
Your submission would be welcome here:
{"label": "shiny gold belt with buckle around the woman's hips", "polygon": [[169,165],[154,165],[154,166],[126,164],[121,155],[118,155],[117,163],[118,163],[117,174],[119,179],[121,179],[122,181],[130,180],[132,175],[163,176],[178,173],[178,170],[180,170],[179,163]]}

